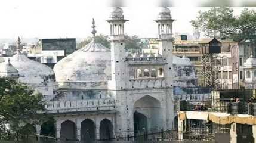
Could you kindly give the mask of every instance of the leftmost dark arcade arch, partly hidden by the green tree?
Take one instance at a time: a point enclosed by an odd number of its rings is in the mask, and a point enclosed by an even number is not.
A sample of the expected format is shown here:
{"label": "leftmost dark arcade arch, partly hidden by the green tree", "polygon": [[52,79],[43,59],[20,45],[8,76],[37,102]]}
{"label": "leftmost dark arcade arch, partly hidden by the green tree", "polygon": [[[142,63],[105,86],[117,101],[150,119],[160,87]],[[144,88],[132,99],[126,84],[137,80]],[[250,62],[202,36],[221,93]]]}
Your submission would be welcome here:
{"label": "leftmost dark arcade arch, partly hidden by the green tree", "polygon": [[53,118],[42,123],[40,135],[55,137],[55,120]]}

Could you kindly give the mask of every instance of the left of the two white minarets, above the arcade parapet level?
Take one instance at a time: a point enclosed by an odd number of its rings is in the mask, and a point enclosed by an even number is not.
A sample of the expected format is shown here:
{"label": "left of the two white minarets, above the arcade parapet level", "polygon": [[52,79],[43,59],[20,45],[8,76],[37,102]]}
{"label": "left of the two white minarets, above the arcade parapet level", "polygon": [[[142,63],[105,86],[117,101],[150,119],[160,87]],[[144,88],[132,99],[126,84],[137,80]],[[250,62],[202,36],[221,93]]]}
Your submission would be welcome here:
{"label": "left of the two white minarets, above the arcade parapet level", "polygon": [[109,85],[111,90],[122,90],[125,88],[125,35],[123,10],[120,7],[113,7],[110,13],[110,35],[111,43],[111,67],[112,81]]}

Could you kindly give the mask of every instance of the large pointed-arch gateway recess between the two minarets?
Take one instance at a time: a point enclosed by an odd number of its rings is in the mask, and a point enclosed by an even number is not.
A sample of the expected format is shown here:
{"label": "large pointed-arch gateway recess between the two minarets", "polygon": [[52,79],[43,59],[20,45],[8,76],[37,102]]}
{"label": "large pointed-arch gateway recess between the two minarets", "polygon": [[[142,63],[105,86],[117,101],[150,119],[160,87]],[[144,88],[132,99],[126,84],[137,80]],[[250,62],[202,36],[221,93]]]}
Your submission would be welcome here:
{"label": "large pointed-arch gateway recess between the two minarets", "polygon": [[134,103],[134,133],[158,132],[162,129],[162,108],[156,98],[149,95]]}

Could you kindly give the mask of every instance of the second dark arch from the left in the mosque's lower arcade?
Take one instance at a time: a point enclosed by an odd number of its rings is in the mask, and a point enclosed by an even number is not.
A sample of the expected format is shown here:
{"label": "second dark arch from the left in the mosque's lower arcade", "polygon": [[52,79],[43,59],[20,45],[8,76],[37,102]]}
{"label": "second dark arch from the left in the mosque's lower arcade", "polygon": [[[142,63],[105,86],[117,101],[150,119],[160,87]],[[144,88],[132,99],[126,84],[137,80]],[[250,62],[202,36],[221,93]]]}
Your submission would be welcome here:
{"label": "second dark arch from the left in the mosque's lower arcade", "polygon": [[70,120],[61,123],[60,138],[67,140],[76,139],[76,125]]}

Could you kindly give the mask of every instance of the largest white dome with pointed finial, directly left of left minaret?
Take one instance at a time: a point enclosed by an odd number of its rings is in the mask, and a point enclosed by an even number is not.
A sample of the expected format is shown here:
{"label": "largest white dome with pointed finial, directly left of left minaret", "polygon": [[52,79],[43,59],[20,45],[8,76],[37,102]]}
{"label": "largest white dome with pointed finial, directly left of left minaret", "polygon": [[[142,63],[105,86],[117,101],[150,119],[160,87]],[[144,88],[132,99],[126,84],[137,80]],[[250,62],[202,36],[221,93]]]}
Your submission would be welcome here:
{"label": "largest white dome with pointed finial, directly left of left minaret", "polygon": [[57,82],[101,82],[111,79],[110,49],[92,41],[54,66]]}

